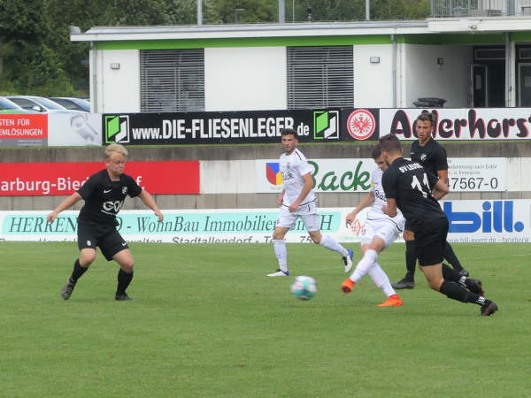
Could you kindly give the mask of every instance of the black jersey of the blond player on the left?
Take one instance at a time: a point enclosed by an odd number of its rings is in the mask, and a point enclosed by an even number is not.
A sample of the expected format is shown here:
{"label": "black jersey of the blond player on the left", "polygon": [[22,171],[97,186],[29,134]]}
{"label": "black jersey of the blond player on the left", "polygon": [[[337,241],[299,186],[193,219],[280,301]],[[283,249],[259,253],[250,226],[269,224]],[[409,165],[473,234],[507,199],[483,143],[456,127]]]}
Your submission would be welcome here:
{"label": "black jersey of the blond player on the left", "polygon": [[97,224],[117,226],[116,215],[127,195],[142,193],[142,188],[127,174],[121,174],[119,181],[112,181],[107,170],[96,172],[77,191],[85,201],[79,220]]}

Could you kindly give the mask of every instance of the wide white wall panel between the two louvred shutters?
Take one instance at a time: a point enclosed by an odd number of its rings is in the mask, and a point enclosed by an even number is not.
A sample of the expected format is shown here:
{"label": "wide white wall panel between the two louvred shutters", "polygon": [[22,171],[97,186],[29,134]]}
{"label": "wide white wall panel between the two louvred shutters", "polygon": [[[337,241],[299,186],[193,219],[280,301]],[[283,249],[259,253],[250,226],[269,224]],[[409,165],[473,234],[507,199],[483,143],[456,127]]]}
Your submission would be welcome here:
{"label": "wide white wall panel between the two louvred shutters", "polygon": [[204,49],[205,111],[286,109],[285,47]]}

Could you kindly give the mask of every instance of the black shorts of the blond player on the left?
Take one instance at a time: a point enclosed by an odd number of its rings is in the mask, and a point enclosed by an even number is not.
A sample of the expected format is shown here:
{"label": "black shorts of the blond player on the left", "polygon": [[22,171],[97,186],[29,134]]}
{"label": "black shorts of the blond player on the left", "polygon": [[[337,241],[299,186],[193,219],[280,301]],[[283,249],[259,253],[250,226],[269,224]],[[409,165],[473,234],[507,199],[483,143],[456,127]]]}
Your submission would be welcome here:
{"label": "black shorts of the blond player on the left", "polygon": [[96,249],[96,246],[102,250],[107,261],[111,261],[119,251],[129,249],[115,226],[78,223],[78,248]]}

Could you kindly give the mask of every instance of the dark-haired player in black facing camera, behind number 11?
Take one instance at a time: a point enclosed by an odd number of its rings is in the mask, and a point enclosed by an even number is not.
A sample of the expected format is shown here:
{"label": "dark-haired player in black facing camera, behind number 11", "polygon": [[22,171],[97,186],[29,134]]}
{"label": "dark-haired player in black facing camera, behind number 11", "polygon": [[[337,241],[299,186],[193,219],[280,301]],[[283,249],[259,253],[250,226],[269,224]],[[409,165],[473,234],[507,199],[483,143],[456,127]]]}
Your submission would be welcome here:
{"label": "dark-haired player in black facing camera, behind number 11", "polygon": [[[415,121],[415,131],[419,139],[412,143],[412,162],[418,162],[424,167],[427,174],[435,180],[443,180],[448,185],[448,160],[446,150],[432,137],[434,129],[434,116],[428,111],[423,111]],[[415,287],[415,267],[417,266],[417,249],[412,228],[405,224],[405,276],[398,282],[393,283],[396,289]],[[459,263],[450,243],[444,245],[444,258],[448,260],[454,270],[461,275],[468,276],[468,272]]]}

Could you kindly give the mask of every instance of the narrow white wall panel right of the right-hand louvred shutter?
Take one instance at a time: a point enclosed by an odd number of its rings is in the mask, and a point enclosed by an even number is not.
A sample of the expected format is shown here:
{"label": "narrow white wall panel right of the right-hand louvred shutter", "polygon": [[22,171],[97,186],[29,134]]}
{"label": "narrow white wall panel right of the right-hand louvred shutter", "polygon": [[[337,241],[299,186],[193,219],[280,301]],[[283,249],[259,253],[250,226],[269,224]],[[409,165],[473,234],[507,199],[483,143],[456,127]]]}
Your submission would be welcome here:
{"label": "narrow white wall panel right of the right-hand louvred shutter", "polygon": [[[393,46],[354,46],[354,107],[393,107]],[[379,64],[371,64],[371,57],[380,57]]]}

